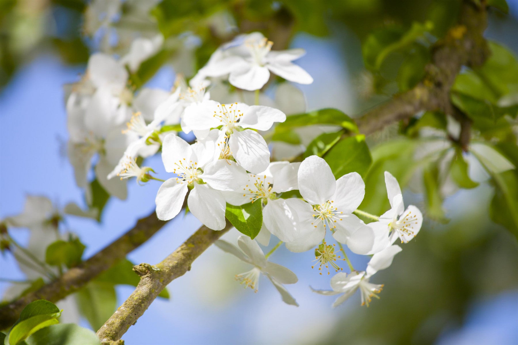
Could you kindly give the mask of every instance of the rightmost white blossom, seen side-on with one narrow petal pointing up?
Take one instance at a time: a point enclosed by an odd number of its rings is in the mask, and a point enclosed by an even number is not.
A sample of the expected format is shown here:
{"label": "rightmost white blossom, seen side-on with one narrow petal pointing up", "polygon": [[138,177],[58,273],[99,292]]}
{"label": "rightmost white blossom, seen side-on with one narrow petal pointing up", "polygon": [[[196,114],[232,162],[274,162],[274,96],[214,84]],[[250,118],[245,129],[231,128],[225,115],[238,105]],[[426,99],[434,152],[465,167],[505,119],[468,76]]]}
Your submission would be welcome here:
{"label": "rightmost white blossom, seen side-on with one narrow petal pointing up", "polygon": [[410,205],[405,209],[397,179],[388,171],[385,171],[385,185],[391,209],[381,215],[379,221],[367,224],[376,234],[373,250],[390,246],[397,238],[401,243],[408,243],[419,233],[423,223],[419,208]]}

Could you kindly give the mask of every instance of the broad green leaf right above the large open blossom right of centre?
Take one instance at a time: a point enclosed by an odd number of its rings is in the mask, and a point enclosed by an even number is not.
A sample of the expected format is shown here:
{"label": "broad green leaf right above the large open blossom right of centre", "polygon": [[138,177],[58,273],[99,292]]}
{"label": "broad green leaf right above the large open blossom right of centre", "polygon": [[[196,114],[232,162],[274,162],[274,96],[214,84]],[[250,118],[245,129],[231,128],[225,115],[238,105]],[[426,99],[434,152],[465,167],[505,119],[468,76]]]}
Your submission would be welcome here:
{"label": "broad green leaf right above the large open blossom right of centre", "polygon": [[353,171],[363,176],[372,162],[364,135],[340,140],[327,151],[323,158],[336,178]]}

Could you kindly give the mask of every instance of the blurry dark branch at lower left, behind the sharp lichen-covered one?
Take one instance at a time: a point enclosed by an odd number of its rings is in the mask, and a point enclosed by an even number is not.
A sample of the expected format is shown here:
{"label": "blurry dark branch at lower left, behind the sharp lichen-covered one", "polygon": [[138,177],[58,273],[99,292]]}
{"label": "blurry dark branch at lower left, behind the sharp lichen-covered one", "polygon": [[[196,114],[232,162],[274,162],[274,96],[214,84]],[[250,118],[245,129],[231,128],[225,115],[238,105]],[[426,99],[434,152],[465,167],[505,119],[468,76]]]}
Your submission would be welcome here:
{"label": "blurry dark branch at lower left, behind the sharp lichen-covered one", "polygon": [[36,299],[47,299],[47,301],[55,303],[78,291],[90,280],[124,259],[127,253],[145,243],[165,223],[165,221],[157,219],[153,211],[149,216],[139,219],[133,229],[127,231],[90,259],[70,268],[61,277],[40,289],[3,306],[0,308],[0,329],[5,329],[15,323],[23,308]]}

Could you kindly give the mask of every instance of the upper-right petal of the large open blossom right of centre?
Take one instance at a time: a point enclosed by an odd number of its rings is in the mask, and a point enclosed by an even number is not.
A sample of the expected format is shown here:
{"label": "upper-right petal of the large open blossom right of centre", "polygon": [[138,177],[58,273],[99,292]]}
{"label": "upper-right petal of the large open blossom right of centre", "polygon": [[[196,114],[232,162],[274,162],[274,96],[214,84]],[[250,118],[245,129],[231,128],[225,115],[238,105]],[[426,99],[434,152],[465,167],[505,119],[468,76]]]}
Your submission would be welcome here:
{"label": "upper-right petal of the large open blossom right of centre", "polygon": [[356,172],[343,175],[336,180],[336,192],[331,198],[338,211],[352,213],[365,196],[365,183],[362,176]]}

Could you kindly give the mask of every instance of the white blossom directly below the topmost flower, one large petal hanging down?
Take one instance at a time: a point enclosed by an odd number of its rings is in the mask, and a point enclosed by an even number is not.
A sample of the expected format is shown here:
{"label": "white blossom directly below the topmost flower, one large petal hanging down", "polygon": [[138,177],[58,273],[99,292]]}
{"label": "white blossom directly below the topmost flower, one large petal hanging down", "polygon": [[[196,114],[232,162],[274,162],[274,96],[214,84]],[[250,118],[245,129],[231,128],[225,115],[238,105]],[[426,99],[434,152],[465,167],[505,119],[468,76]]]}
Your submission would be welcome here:
{"label": "white blossom directly below the topmost flower, one large petal hanging down", "polygon": [[237,102],[207,101],[186,108],[184,113],[184,122],[192,130],[219,128],[236,162],[251,173],[264,171],[270,162],[266,141],[252,129],[268,130],[274,122],[285,119],[280,110]]}

